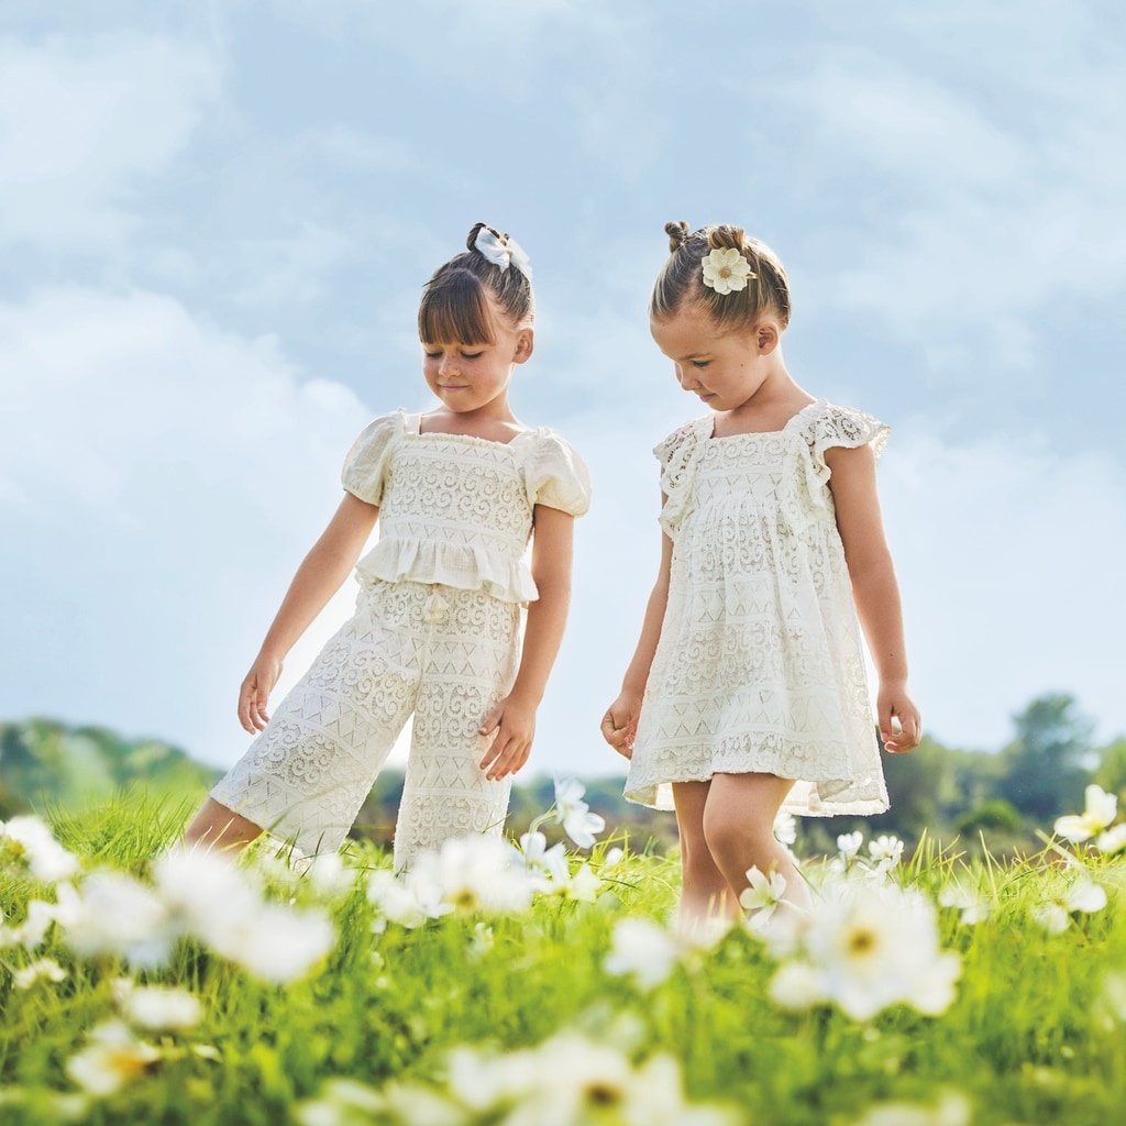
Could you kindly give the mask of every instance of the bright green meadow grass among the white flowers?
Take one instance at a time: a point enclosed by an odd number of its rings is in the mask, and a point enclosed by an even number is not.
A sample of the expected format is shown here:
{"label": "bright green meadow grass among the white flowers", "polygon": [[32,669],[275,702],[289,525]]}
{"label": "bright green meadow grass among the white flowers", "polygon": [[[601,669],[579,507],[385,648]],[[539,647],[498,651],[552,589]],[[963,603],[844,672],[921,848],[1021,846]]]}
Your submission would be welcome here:
{"label": "bright green meadow grass among the white flowers", "polygon": [[[186,815],[187,807],[154,807],[134,794],[50,820],[86,868],[144,877]],[[596,867],[604,852],[596,848]],[[388,861],[358,846],[351,863]],[[651,992],[607,974],[602,960],[618,921],[663,923],[674,910],[678,866],[656,856],[627,856],[607,868],[596,902],[540,896],[517,914],[454,913],[413,930],[391,923],[383,933],[373,933],[375,911],[360,882],[331,906],[332,953],[286,985],[257,981],[187,939],[158,969],[131,971],[106,955],[81,959],[55,928],[34,951],[0,949],[0,1121],[39,1126],[69,1112],[96,1124],[274,1126],[297,1120],[303,1100],[329,1079],[441,1090],[449,1049],[516,1051],[563,1029],[615,1045],[633,1061],[671,1054],[688,1098],[729,1105],[738,1121],[847,1126],[874,1103],[935,1106],[951,1089],[968,1099],[966,1120],[981,1126],[1116,1121],[1126,1106],[1126,1011],[1108,994],[1114,975],[1126,975],[1126,865],[1098,857],[1088,864],[1108,903],[1072,912],[1053,935],[1033,912],[1069,879],[1056,852],[967,865],[922,842],[897,872],[901,883],[937,899],[957,876],[992,910],[974,926],[960,923],[953,908],[940,910],[941,945],[963,962],[945,1013],[897,1006],[864,1024],[832,1006],[780,1009],[769,994],[777,963],[743,929],[713,950],[686,954]],[[817,881],[816,865],[811,876]],[[294,895],[280,884],[275,891]],[[34,897],[50,900],[52,888],[0,847],[3,923],[18,926]],[[315,896],[298,888],[295,897]],[[17,989],[12,971],[38,957],[57,959],[66,978]],[[187,989],[205,1016],[190,1031],[143,1034],[161,1058],[117,1093],[59,1102],[56,1096],[80,1090],[66,1061],[115,1015],[111,983],[122,975]],[[619,1119],[606,1111],[589,1120]]]}

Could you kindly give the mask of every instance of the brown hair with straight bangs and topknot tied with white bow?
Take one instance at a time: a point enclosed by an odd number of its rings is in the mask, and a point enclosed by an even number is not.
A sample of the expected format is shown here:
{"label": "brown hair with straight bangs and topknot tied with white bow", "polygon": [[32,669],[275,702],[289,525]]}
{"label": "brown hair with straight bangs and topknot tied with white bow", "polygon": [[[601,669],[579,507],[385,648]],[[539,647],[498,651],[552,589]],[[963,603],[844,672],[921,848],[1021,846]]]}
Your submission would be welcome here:
{"label": "brown hair with straight bangs and topknot tied with white bow", "polygon": [[[501,248],[513,248],[503,265],[490,261],[477,248],[482,231]],[[467,250],[439,266],[422,287],[419,339],[426,343],[495,343],[486,287],[515,328],[527,328],[535,320],[531,279],[520,268],[516,243],[484,223],[474,223],[465,245]]]}

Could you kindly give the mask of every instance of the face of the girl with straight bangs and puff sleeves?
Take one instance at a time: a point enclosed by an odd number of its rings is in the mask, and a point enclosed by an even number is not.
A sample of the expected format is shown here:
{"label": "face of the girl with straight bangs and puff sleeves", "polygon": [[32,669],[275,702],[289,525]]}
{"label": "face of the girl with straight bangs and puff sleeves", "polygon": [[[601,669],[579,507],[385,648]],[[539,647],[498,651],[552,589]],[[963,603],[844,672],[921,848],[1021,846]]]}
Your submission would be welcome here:
{"label": "face of the girl with straight bangs and puff sleeves", "polygon": [[491,297],[489,304],[493,343],[422,341],[426,382],[455,414],[507,412],[512,369],[531,355],[531,329],[512,328]]}

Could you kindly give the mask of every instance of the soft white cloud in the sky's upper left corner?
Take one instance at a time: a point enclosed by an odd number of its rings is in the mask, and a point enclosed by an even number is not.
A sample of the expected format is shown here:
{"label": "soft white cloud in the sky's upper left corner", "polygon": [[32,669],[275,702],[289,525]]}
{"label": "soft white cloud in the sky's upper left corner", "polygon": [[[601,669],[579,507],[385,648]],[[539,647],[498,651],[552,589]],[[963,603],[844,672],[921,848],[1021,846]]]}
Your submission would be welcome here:
{"label": "soft white cloud in the sky's upper left corner", "polygon": [[220,87],[214,57],[189,42],[0,39],[0,242],[118,242],[136,190],[169,169]]}

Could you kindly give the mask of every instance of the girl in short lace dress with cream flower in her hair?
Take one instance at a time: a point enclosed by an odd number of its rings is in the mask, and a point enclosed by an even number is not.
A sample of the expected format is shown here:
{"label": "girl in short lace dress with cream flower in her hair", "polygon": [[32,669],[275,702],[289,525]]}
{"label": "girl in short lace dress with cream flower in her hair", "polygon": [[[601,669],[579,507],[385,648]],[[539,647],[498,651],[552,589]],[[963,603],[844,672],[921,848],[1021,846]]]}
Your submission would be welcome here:
{"label": "girl in short lace dress with cream flower in her hair", "polygon": [[602,733],[631,759],[626,797],[677,811],[691,928],[735,915],[752,868],[806,902],[779,808],[885,810],[876,720],[888,751],[920,733],[876,499],[887,427],[790,377],[789,288],[768,247],[735,226],[665,230],[651,330],[709,413],[654,450],[661,569]]}

